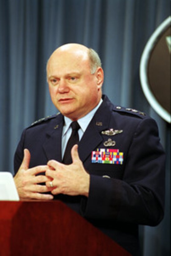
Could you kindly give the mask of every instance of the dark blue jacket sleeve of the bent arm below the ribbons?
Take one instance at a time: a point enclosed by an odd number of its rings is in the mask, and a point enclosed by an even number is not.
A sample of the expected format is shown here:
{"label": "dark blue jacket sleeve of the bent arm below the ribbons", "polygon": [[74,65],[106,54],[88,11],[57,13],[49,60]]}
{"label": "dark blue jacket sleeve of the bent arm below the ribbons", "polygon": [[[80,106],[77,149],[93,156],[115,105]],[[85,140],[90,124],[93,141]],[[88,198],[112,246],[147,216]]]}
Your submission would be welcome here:
{"label": "dark blue jacket sleeve of the bent arm below the ribbons", "polygon": [[125,161],[123,180],[91,175],[83,216],[157,225],[164,216],[165,154],[153,119],[140,121]]}

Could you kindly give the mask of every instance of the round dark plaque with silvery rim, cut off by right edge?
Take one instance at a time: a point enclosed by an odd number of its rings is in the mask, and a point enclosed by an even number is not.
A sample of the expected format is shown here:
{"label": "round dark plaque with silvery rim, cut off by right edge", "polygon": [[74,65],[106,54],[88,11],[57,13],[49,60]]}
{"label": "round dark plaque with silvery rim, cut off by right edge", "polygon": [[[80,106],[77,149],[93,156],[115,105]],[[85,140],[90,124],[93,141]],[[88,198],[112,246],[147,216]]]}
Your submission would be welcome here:
{"label": "round dark plaque with silvery rim, cut off by right edge", "polygon": [[171,123],[170,57],[171,17],[152,34],[140,61],[140,81],[152,108],[165,121]]}

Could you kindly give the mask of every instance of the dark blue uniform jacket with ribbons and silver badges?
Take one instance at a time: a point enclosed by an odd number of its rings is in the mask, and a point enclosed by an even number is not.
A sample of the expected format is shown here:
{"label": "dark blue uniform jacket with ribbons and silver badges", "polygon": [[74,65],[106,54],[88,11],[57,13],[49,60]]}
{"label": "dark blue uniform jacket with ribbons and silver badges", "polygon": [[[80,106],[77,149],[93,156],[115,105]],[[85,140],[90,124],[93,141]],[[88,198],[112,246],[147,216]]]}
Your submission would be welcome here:
{"label": "dark blue uniform jacket with ribbons and silver badges", "polygon": [[[62,161],[63,116],[57,114],[25,129],[18,144],[15,173],[23,150],[30,168]],[[90,174],[88,199],[57,195],[133,255],[138,255],[138,224],[157,225],[164,216],[164,161],[155,121],[144,113],[114,106],[107,96],[78,144]]]}

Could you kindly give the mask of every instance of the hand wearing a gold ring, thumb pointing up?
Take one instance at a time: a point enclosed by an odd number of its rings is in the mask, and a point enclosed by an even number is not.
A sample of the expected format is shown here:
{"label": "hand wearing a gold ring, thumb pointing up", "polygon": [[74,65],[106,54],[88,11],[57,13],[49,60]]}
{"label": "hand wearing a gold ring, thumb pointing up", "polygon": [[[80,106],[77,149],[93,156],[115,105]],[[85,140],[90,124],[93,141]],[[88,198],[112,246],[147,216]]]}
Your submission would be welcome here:
{"label": "hand wearing a gold ring, thumb pointing up", "polygon": [[[64,165],[55,160],[50,160],[45,175],[53,179],[52,194],[85,195],[88,197],[90,175],[85,171],[78,155],[78,145],[71,150],[73,163]],[[46,182],[50,187],[50,181]]]}

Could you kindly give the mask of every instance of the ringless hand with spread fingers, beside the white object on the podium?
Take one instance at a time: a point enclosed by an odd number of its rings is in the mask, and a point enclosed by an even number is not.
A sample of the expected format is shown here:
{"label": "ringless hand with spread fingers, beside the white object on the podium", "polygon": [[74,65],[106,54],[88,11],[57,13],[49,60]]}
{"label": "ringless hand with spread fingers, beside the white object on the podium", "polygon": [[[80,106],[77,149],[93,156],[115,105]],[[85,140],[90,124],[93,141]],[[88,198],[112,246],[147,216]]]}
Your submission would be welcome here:
{"label": "ringless hand with spread fingers, beside the white object on the podium", "polygon": [[40,185],[40,183],[50,181],[50,178],[45,175],[37,175],[45,172],[48,169],[47,165],[39,165],[29,169],[30,158],[29,150],[25,149],[22,164],[14,177],[20,199],[53,199],[53,195],[43,194],[51,191],[52,188],[48,188],[46,185]]}

